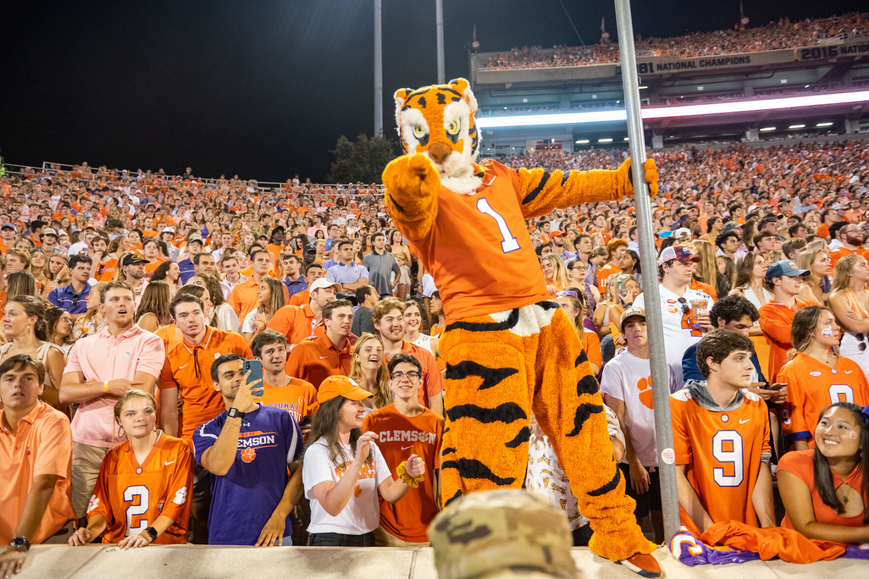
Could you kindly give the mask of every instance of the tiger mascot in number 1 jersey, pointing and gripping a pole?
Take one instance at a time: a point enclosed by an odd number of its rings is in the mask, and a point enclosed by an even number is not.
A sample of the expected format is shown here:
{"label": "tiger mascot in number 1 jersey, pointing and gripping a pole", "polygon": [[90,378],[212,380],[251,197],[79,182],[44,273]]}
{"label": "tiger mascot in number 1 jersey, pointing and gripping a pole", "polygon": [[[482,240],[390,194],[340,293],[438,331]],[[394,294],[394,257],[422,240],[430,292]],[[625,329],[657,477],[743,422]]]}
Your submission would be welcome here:
{"label": "tiger mascot in number 1 jersey, pointing and gripping a pole", "polygon": [[[633,195],[630,160],[618,170],[551,173],[478,164],[476,110],[463,78],[396,91],[405,154],[383,171],[389,214],[434,277],[447,318],[444,505],[476,490],[521,487],[533,410],[591,521],[589,547],[628,565],[639,558],[646,565],[634,570],[655,576],[644,569],[657,566],[647,555],[655,546],[625,496],[597,381],[547,291],[525,223],[555,208]],[[651,159],[645,176],[657,192]]]}

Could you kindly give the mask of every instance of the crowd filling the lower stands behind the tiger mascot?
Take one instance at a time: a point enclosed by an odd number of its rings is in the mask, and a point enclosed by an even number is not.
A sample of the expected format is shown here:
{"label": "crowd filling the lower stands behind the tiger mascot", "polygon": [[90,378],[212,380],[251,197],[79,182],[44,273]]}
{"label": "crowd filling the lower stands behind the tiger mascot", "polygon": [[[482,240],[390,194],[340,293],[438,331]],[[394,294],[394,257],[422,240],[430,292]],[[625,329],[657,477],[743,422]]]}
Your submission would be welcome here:
{"label": "crowd filling the lower stands behind the tiger mascot", "polygon": [[[615,169],[626,155],[500,160]],[[638,520],[668,538],[643,293],[656,282],[683,524],[869,541],[864,143],[651,156],[656,275],[640,275],[632,199],[530,221],[541,270],[516,272],[543,276],[574,323]],[[0,188],[0,575],[31,543],[428,542],[444,316],[376,186],[82,164]],[[552,444],[530,430],[525,486],[586,544]]]}

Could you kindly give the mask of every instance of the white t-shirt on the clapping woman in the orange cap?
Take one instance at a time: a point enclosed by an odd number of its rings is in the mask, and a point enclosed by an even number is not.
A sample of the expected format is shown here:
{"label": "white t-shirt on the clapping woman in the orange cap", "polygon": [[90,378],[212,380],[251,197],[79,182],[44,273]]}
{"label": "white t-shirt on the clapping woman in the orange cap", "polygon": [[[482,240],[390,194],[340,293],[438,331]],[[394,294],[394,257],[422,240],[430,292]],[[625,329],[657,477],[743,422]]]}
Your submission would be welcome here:
{"label": "white t-shirt on the clapping woman in the orange cap", "polygon": [[335,463],[329,460],[326,441],[318,438],[305,450],[302,466],[302,482],[305,485],[305,496],[311,502],[311,523],[308,533],[342,533],[344,535],[365,535],[380,526],[380,501],[377,487],[392,476],[380,449],[371,443],[373,458],[362,465],[359,471],[359,482],[347,506],[331,516],[320,505],[314,495],[314,487],[321,482],[332,481],[335,484],[341,480],[343,472],[353,462],[353,450],[349,444],[342,444],[343,458],[338,456]]}

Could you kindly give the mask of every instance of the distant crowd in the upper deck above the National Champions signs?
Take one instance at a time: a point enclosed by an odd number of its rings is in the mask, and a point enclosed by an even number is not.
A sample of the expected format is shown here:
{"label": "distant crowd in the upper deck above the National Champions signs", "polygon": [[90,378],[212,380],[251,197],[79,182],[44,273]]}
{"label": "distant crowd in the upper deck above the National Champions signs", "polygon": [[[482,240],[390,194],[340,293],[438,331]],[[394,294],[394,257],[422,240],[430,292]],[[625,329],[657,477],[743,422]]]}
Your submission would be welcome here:
{"label": "distant crowd in the upper deck above the National Champions signs", "polygon": [[[734,26],[733,30],[691,32],[681,37],[637,37],[635,50],[640,57],[712,57],[715,55],[760,52],[813,46],[819,39],[831,37],[865,37],[869,34],[869,14],[849,13],[839,17],[806,18],[778,22],[755,28]],[[608,38],[608,35],[604,35]],[[585,46],[514,47],[507,53],[488,57],[485,69],[526,69],[551,66],[584,66],[619,62],[617,44],[601,40]]]}

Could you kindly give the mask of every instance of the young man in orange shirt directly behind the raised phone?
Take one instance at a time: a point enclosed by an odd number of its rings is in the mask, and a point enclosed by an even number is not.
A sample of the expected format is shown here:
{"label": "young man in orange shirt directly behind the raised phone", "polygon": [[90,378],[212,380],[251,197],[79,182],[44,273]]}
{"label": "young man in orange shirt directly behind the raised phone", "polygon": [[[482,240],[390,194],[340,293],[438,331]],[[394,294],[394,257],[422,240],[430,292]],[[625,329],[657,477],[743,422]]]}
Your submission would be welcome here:
{"label": "young man in orange shirt directly behind the raised phone", "polygon": [[[287,337],[274,329],[266,329],[250,343],[255,361],[262,363],[262,396],[259,402],[287,410],[302,428],[302,436],[311,431],[311,417],[319,406],[317,391],[312,383],[287,376]],[[251,376],[254,376],[253,374]],[[306,420],[307,419],[307,420]]]}

